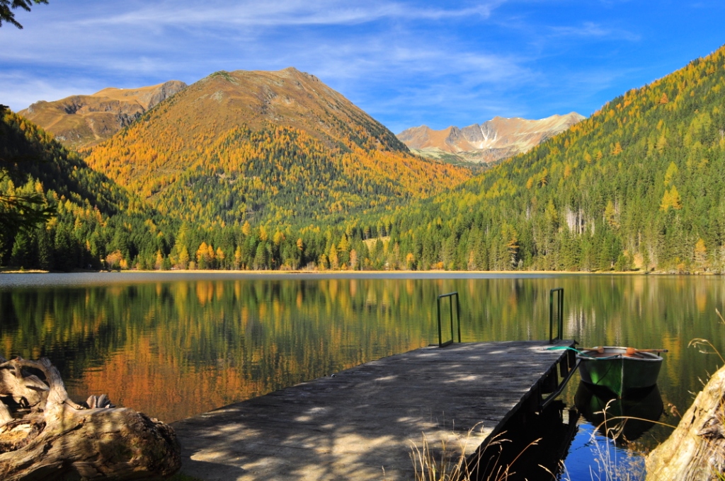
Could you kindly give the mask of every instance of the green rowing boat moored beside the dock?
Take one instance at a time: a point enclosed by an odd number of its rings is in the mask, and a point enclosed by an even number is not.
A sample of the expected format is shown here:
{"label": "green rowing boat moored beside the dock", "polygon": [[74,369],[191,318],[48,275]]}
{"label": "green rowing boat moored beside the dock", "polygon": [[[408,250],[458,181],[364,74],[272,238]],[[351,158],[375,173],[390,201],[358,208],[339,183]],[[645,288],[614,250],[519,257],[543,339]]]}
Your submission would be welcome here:
{"label": "green rowing boat moored beside the dock", "polygon": [[603,352],[577,354],[581,380],[620,397],[657,384],[662,356],[646,352],[627,355],[626,351],[622,347],[605,347]]}

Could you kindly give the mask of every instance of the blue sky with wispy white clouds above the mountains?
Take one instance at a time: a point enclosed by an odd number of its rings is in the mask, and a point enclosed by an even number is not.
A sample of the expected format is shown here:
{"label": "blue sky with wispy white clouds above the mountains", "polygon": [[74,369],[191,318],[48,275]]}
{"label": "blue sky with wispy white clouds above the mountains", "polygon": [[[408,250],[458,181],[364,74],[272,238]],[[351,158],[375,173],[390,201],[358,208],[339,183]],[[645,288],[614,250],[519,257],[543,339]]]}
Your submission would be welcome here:
{"label": "blue sky with wispy white clouds above the mountains", "polygon": [[589,115],[725,43],[717,1],[49,0],[0,27],[0,103],[196,80],[317,75],[399,133]]}

